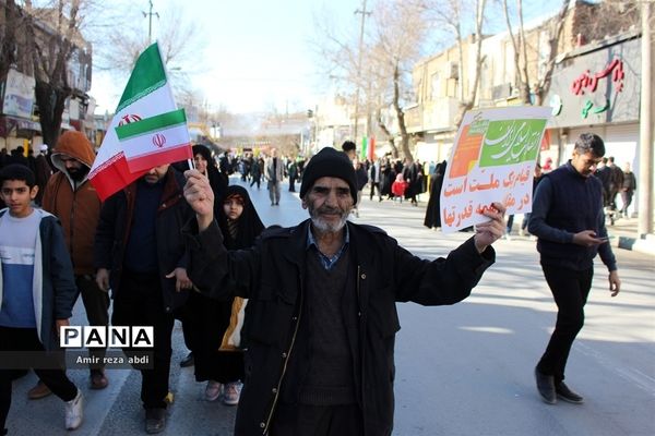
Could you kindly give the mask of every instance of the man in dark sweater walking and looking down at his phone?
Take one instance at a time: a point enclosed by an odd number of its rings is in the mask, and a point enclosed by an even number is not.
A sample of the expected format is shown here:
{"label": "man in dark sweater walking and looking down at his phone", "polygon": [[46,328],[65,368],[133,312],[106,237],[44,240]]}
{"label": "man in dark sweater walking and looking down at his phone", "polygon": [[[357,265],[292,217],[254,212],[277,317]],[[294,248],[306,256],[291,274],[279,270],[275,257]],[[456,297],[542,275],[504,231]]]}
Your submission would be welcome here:
{"label": "man in dark sweater walking and looking down at his phone", "polygon": [[549,404],[558,398],[576,404],[584,401],[564,384],[564,367],[584,325],[596,254],[609,270],[611,296],[621,288],[605,228],[603,186],[592,177],[604,155],[603,140],[583,133],[572,158],[546,174],[535,192],[528,231],[538,238],[541,269],[558,306],[555,331],[535,368],[537,390]]}

